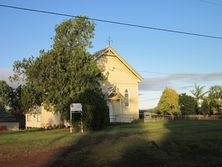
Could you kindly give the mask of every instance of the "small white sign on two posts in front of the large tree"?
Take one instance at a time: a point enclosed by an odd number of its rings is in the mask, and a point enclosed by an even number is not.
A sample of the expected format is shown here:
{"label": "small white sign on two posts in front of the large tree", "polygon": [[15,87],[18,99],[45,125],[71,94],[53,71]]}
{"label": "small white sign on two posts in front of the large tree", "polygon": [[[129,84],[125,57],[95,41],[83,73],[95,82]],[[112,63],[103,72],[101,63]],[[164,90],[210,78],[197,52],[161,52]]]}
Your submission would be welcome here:
{"label": "small white sign on two posts in front of the large tree", "polygon": [[73,131],[72,114],[81,114],[80,128],[81,128],[81,132],[83,133],[82,104],[81,103],[72,103],[72,104],[70,104],[70,133],[72,133],[72,131]]}

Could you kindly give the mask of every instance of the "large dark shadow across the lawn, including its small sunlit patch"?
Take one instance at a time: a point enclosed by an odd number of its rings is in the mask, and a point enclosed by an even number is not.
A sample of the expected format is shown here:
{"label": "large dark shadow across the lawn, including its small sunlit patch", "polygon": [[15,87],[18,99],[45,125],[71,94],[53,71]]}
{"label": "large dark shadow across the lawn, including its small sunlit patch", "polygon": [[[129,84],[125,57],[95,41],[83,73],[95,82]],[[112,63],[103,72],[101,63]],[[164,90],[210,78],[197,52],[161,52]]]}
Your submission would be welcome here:
{"label": "large dark shadow across the lawn, including its small sunlit patch", "polygon": [[117,125],[88,133],[48,166],[222,166],[221,122],[160,124]]}

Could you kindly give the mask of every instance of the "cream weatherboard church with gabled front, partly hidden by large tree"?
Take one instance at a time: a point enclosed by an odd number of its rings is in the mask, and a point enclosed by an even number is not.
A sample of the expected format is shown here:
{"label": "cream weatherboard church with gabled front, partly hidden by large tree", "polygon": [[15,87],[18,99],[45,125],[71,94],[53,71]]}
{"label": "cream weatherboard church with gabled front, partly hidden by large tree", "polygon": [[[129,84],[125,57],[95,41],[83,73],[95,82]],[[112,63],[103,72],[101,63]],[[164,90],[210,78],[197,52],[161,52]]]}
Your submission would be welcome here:
{"label": "cream weatherboard church with gabled front, partly hidden by large tree", "polygon": [[[110,122],[132,122],[139,118],[138,84],[143,78],[111,47],[94,54],[98,67],[107,76],[102,89],[109,106]],[[84,104],[83,104],[84,105]],[[26,127],[57,126],[60,114],[43,106],[26,114]]]}

